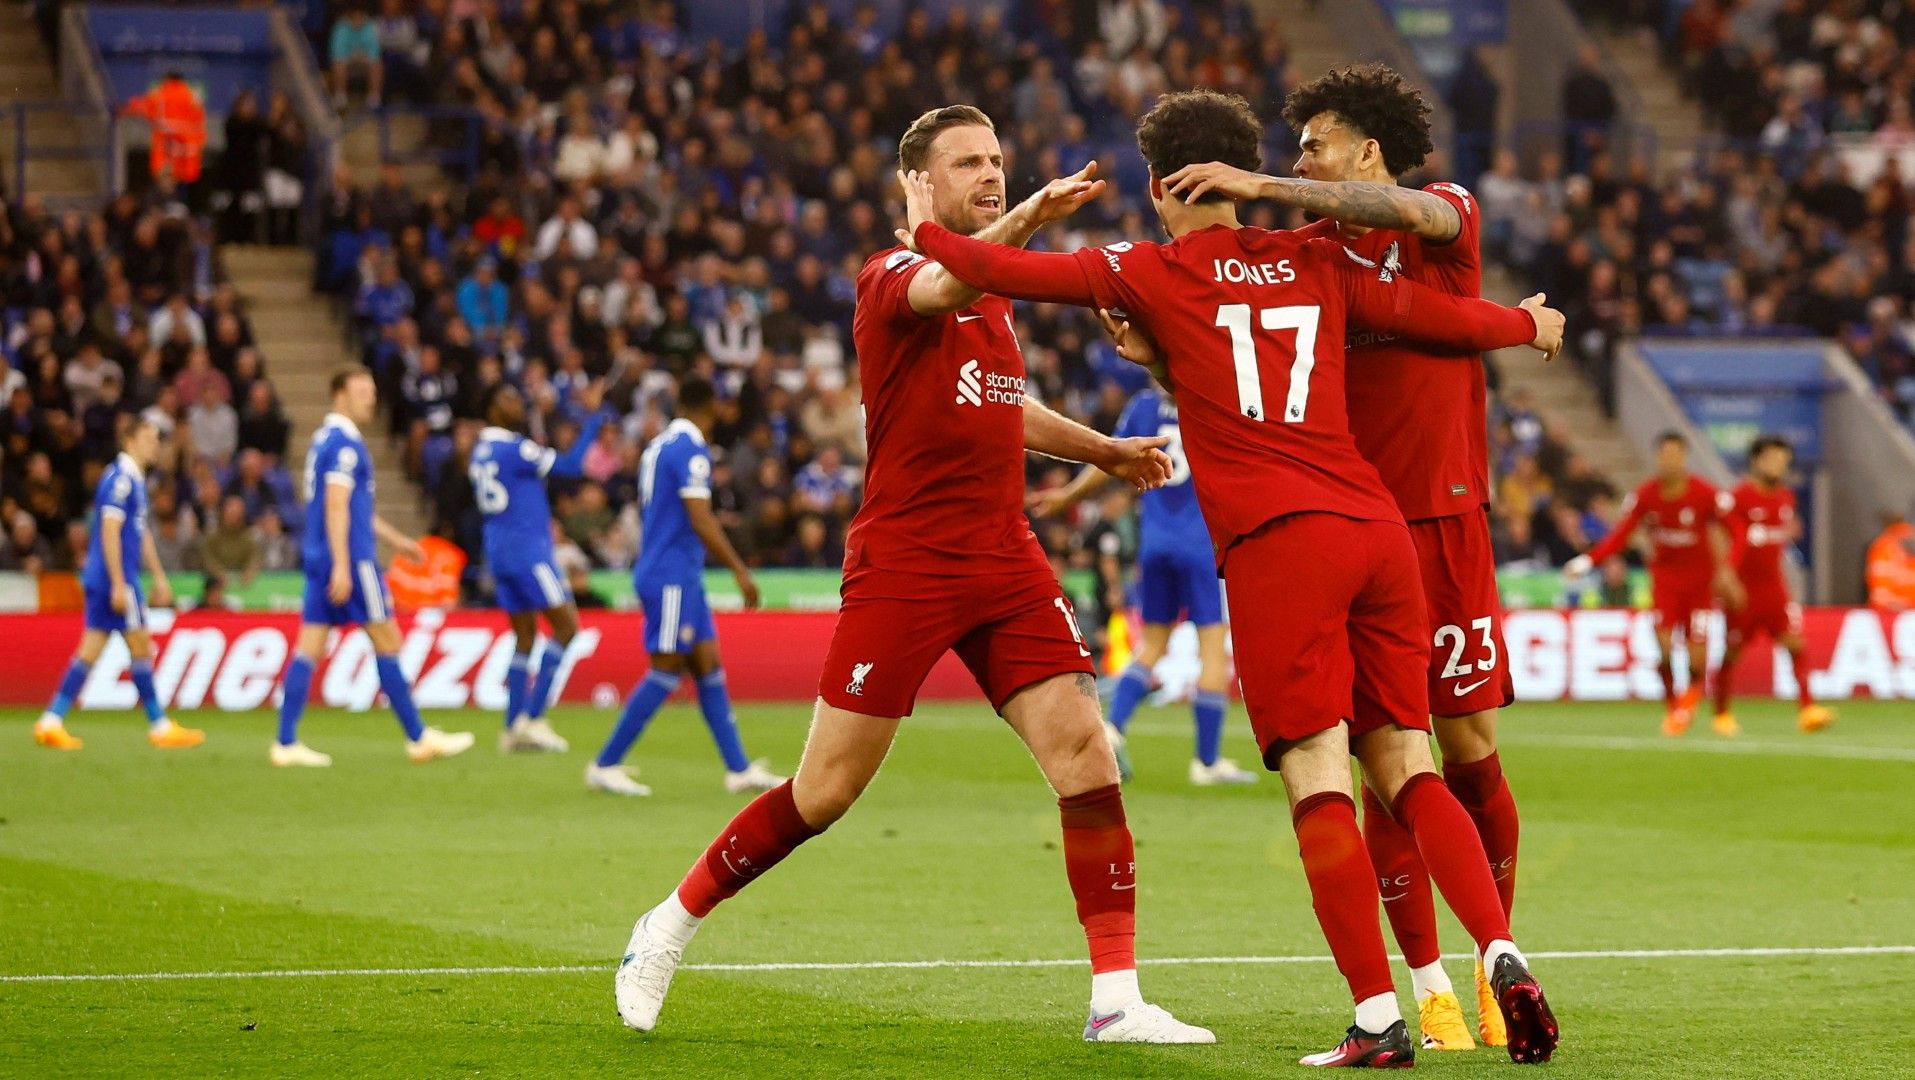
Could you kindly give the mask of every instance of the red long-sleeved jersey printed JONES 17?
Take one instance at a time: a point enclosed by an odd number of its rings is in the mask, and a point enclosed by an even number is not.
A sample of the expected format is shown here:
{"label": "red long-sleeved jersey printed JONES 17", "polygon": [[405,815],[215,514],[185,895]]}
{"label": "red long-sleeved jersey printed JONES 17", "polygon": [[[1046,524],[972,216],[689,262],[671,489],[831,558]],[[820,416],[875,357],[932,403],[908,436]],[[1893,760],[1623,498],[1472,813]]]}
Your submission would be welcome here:
{"label": "red long-sleeved jersey printed JONES 17", "polygon": [[1216,224],[1162,245],[1046,255],[925,224],[917,243],[977,287],[1120,310],[1151,331],[1170,366],[1218,563],[1287,513],[1402,521],[1350,437],[1346,322],[1417,326],[1475,349],[1536,337],[1528,312],[1385,280],[1340,245],[1293,232]]}

